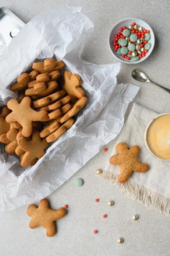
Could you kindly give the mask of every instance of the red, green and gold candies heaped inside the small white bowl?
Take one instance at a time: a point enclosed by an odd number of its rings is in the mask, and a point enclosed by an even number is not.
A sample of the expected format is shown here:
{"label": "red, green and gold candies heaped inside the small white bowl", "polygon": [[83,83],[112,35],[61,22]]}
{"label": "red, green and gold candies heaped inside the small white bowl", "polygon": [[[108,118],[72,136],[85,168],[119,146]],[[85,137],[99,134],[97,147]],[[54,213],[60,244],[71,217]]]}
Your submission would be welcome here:
{"label": "red, green and gold candies heaped inside the small white bowl", "polygon": [[[151,48],[150,30],[140,27],[135,22],[132,22],[128,27],[121,27],[120,32],[114,36],[113,50],[126,58],[128,61],[138,61],[145,57],[148,50]],[[104,151],[107,151],[104,149]]]}

